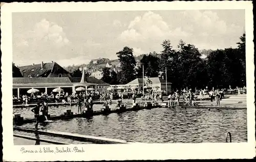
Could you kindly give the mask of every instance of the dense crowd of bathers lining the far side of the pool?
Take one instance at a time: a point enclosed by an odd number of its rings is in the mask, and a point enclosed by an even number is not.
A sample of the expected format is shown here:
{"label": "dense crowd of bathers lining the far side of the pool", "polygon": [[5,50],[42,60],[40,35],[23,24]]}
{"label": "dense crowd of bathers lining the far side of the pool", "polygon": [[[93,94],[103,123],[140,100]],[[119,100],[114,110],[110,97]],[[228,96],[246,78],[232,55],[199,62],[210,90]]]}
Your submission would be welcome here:
{"label": "dense crowd of bathers lining the far side of the pool", "polygon": [[[230,88],[231,89],[231,88]],[[237,87],[237,93],[245,94],[246,93],[246,87],[243,88]],[[179,102],[182,100],[185,105],[194,106],[195,100],[198,98],[200,101],[209,99],[211,102],[214,100],[216,101],[217,105],[220,105],[220,100],[224,98],[225,91],[228,91],[228,89],[215,89],[214,87],[211,90],[206,89],[200,89],[196,90],[196,92],[192,92],[191,89],[181,89],[176,90],[168,95],[167,97],[167,104],[168,107],[179,105]],[[145,93],[143,96],[142,90],[138,89],[122,89],[122,90],[112,90],[108,92],[104,91],[81,91],[81,92],[73,92],[72,94],[69,94],[68,92],[51,92],[50,95],[46,93],[41,94],[34,94],[31,93],[30,96],[23,95],[20,96],[20,99],[22,100],[23,104],[27,105],[29,103],[38,102],[38,101],[47,101],[47,102],[55,102],[55,103],[77,103],[80,105],[79,100],[83,100],[84,103],[87,101],[92,102],[92,100],[99,99],[101,103],[109,103],[112,104],[113,100],[120,99],[121,101],[124,99],[133,99],[134,103],[136,98],[140,98],[141,100],[147,100],[147,101],[163,101],[163,90],[152,90],[152,89],[145,89]],[[96,98],[95,98],[96,97]],[[13,96],[13,100],[17,100],[16,96]],[[120,102],[121,102],[120,101]],[[89,102],[89,103],[90,103]],[[90,104],[89,104],[90,105]],[[90,106],[89,106],[90,107]],[[81,110],[79,108],[79,110]],[[81,111],[80,111],[81,112]]]}

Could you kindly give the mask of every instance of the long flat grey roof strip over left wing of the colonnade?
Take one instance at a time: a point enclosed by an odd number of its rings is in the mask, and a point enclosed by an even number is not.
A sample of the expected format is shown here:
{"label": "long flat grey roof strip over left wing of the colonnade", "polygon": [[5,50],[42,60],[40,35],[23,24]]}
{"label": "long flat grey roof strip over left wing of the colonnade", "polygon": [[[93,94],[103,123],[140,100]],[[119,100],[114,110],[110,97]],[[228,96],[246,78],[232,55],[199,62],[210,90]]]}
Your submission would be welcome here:
{"label": "long flat grey roof strip over left wing of the colonnade", "polygon": [[50,78],[12,78],[13,84],[51,84],[51,83],[72,83],[68,77]]}

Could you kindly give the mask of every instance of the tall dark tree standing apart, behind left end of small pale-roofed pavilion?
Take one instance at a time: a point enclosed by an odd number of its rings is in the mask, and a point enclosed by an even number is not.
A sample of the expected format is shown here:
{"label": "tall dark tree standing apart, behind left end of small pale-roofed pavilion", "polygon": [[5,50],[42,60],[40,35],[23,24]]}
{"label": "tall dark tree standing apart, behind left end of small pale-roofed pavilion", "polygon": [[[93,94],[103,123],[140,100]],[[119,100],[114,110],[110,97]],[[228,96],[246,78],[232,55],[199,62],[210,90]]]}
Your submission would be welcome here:
{"label": "tall dark tree standing apart, behind left end of small pale-roofed pavilion", "polygon": [[116,53],[121,63],[121,71],[119,76],[119,82],[126,84],[135,79],[135,65],[136,61],[133,55],[133,49],[124,47],[123,50]]}

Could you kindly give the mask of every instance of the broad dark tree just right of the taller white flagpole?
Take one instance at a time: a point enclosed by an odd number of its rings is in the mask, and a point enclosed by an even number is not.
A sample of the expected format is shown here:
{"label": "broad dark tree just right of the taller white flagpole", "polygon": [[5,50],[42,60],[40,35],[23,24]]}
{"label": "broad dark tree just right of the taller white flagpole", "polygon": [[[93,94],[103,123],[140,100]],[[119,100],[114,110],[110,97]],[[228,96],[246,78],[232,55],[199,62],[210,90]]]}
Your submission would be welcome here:
{"label": "broad dark tree just right of the taller white flagpole", "polygon": [[180,40],[177,55],[173,60],[173,82],[176,88],[203,87],[207,73],[205,62],[200,58],[201,54],[193,44],[186,44]]}

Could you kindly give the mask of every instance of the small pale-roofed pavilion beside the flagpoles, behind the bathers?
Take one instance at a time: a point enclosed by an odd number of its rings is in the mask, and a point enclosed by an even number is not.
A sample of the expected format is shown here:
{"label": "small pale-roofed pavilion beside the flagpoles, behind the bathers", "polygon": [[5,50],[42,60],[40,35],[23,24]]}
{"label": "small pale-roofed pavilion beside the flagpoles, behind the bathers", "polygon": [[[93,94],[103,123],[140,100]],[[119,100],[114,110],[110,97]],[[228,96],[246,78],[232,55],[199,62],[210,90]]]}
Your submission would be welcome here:
{"label": "small pale-roofed pavilion beside the flagpoles, behind the bathers", "polygon": [[[140,90],[143,89],[143,85],[148,85],[149,87],[158,86],[160,90],[166,91],[166,81],[160,77],[154,77],[154,78],[144,78],[144,84],[143,84],[143,78],[137,78],[133,81],[124,84],[124,85],[111,85],[111,86],[123,86],[123,87],[132,87],[136,86]],[[170,94],[172,92],[172,83],[167,82],[167,93]]]}

